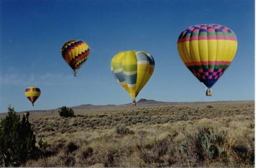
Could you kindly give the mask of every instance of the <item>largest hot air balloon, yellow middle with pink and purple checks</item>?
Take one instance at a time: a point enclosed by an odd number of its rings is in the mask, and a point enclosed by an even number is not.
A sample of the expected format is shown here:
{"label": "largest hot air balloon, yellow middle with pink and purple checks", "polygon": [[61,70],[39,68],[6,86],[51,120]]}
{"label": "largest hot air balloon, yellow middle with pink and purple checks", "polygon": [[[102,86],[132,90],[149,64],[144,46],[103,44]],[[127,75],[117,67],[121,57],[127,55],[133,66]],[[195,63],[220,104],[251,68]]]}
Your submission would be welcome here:
{"label": "largest hot air balloon, yellow middle with pink and purple checks", "polygon": [[212,96],[213,84],[234,59],[237,37],[220,24],[193,25],[181,32],[177,50],[185,66],[207,88],[207,96]]}

